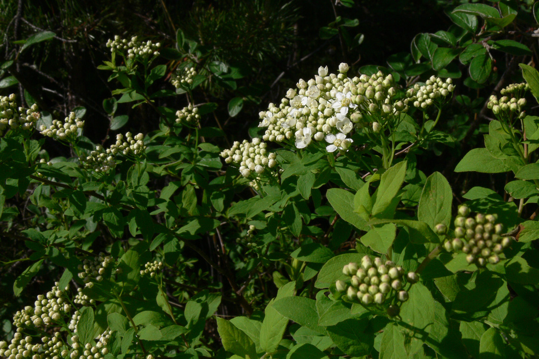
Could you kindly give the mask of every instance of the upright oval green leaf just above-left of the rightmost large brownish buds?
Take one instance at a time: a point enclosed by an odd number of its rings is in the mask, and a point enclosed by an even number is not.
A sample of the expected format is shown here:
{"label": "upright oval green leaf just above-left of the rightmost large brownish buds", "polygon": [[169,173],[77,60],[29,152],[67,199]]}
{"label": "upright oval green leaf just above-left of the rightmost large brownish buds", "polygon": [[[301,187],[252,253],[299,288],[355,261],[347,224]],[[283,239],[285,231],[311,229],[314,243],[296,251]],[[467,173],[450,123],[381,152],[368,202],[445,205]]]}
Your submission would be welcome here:
{"label": "upright oval green leaf just above-left of the rightmost large brownish buds", "polygon": [[432,229],[439,223],[449,227],[452,199],[453,192],[447,179],[440,172],[434,172],[427,178],[421,192],[417,218]]}

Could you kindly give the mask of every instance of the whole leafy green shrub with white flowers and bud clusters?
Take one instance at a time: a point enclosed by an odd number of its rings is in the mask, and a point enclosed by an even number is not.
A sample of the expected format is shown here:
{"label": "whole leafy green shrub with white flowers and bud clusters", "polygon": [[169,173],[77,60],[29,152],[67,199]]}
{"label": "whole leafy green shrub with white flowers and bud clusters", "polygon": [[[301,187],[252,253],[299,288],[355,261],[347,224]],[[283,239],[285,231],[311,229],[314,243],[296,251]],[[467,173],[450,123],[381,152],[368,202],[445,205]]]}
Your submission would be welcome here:
{"label": "whole leafy green shrub with white flowers and bud clusters", "polygon": [[[179,31],[175,50],[109,40],[99,68],[119,88],[103,101],[100,144],[80,108],[60,121],[0,99],[1,231],[29,253],[7,262],[28,264],[13,293],[33,278],[49,286],[4,325],[0,357],[536,356],[539,118],[527,96],[539,99],[539,72],[521,64],[525,82],[475,100],[494,118],[480,127],[485,147],[454,168],[505,174],[503,193],[452,188],[421,162],[458,142],[459,92],[492,71],[483,50],[516,46],[482,38],[515,18],[497,6],[458,6],[458,29],[416,37],[412,64],[319,67],[229,148],[215,144],[228,140],[209,116],[217,105],[197,101],[232,74]],[[457,57],[466,80],[450,71]],[[107,143],[129,121],[122,103],[158,123]]]}

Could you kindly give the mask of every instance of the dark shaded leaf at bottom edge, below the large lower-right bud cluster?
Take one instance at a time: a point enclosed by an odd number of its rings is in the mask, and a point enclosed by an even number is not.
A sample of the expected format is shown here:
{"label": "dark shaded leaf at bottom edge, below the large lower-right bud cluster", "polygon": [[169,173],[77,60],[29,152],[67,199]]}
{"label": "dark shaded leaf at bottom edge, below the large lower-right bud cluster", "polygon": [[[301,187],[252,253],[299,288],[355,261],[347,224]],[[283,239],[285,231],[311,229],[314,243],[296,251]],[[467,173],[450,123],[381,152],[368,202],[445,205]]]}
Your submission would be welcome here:
{"label": "dark shaded leaf at bottom edge, below the large lower-right bud cluster", "polygon": [[337,348],[350,356],[363,356],[370,353],[374,345],[374,334],[368,330],[369,320],[347,319],[327,328],[331,340]]}

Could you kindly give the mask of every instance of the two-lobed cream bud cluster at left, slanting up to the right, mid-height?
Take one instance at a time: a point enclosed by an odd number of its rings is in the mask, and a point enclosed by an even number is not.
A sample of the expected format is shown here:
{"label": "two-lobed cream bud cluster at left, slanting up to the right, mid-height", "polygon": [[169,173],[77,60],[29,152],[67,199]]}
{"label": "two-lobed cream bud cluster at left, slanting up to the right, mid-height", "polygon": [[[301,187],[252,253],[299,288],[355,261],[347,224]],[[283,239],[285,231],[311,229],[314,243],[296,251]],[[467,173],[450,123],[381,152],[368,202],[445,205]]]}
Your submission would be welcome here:
{"label": "two-lobed cream bud cluster at left, slanting up to the right, mid-height", "polygon": [[89,156],[79,157],[85,168],[96,172],[107,172],[116,167],[116,154],[119,152],[126,156],[141,156],[146,150],[144,135],[139,133],[135,137],[128,132],[126,140],[121,134],[116,135],[116,143],[106,150],[98,144]]}

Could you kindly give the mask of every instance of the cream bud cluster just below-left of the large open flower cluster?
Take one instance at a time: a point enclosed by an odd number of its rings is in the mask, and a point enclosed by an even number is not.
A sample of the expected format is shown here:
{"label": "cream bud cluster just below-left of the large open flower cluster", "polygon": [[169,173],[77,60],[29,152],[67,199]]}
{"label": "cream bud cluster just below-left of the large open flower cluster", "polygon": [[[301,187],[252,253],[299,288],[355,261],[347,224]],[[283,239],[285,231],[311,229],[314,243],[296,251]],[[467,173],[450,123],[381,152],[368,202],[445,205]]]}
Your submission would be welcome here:
{"label": "cream bud cluster just below-left of the large open flower cluster", "polygon": [[267,168],[273,168],[277,165],[276,155],[268,153],[267,144],[255,138],[252,142],[244,140],[235,141],[231,149],[222,151],[221,156],[225,158],[226,163],[236,163],[239,165],[239,171],[242,176],[249,177],[251,172],[261,174]]}

